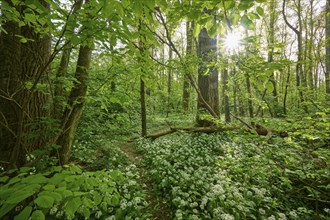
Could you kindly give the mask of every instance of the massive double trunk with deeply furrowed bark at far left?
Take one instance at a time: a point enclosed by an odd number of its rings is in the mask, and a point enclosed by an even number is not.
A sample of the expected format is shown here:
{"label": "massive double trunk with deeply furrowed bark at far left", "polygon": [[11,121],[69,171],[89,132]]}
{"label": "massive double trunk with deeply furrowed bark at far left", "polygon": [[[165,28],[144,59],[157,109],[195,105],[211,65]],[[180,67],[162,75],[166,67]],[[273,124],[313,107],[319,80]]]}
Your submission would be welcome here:
{"label": "massive double trunk with deeply furrowed bark at far left", "polygon": [[[13,10],[21,10],[11,1],[7,3]],[[48,9],[48,4],[40,3]],[[2,16],[10,17],[6,12]],[[0,35],[1,161],[5,167],[20,167],[28,154],[46,146],[50,138],[49,127],[43,121],[49,116],[45,79],[49,70],[50,37],[41,36],[33,26],[20,28],[11,20],[5,20],[2,27],[7,33]],[[17,36],[29,41],[21,43]]]}

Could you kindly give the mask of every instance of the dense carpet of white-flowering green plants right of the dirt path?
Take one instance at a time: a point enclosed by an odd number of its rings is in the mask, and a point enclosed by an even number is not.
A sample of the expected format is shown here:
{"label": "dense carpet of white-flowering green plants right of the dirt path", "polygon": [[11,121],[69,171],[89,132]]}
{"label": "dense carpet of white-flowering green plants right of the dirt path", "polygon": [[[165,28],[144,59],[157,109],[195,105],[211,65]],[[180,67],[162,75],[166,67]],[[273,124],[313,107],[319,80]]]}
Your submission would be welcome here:
{"label": "dense carpet of white-flowering green plants right of the dirt path", "polygon": [[173,206],[174,219],[329,215],[330,155],[324,148],[306,151],[290,139],[267,143],[230,133],[182,133],[156,142],[141,140],[139,148],[154,186]]}

